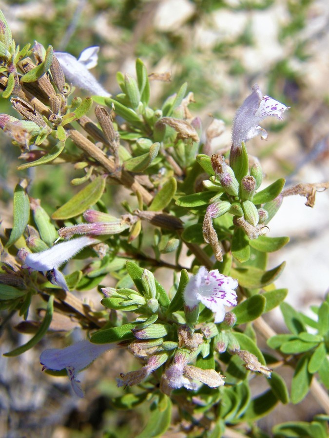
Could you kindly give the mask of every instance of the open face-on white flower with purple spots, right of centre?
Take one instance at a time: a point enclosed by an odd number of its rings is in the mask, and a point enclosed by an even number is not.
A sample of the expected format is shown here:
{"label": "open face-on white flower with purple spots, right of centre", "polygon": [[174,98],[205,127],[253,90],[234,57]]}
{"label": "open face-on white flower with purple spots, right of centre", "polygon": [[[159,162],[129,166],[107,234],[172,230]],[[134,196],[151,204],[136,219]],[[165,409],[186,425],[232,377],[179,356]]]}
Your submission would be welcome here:
{"label": "open face-on white flower with purple spots, right of centre", "polygon": [[193,310],[199,302],[215,314],[215,323],[220,323],[225,317],[225,306],[236,306],[234,289],[238,282],[232,277],[220,274],[218,269],[208,272],[201,266],[187,284],[184,291],[185,306]]}

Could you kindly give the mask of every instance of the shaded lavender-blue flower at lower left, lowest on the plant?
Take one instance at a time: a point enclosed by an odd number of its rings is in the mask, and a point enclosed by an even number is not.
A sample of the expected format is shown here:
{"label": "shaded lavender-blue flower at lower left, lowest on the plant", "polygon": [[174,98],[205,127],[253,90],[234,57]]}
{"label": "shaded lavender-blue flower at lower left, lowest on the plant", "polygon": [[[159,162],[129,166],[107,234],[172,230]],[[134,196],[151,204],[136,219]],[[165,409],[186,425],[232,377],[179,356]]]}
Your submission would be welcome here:
{"label": "shaded lavender-blue flower at lower left, lowest on the plant", "polygon": [[79,341],[65,348],[50,348],[40,355],[40,363],[45,368],[59,371],[66,369],[72,388],[78,397],[83,397],[83,391],[76,375],[79,371],[90,365],[98,356],[105,351],[116,347],[116,344],[92,344],[91,342]]}

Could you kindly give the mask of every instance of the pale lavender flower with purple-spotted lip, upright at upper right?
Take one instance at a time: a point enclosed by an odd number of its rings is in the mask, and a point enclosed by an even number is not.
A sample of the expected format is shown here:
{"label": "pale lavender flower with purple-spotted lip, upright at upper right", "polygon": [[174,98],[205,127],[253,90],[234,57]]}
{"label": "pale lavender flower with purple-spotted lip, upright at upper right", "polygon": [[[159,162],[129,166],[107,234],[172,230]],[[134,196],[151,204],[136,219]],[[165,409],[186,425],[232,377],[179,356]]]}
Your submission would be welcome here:
{"label": "pale lavender flower with purple-spotted lip, upright at upper right", "polygon": [[261,135],[261,138],[266,140],[268,134],[258,125],[259,122],[268,116],[275,116],[281,120],[281,114],[289,108],[270,96],[263,96],[258,85],[255,84],[252,93],[235,113],[232,129],[233,146],[241,146],[242,142],[256,135]]}

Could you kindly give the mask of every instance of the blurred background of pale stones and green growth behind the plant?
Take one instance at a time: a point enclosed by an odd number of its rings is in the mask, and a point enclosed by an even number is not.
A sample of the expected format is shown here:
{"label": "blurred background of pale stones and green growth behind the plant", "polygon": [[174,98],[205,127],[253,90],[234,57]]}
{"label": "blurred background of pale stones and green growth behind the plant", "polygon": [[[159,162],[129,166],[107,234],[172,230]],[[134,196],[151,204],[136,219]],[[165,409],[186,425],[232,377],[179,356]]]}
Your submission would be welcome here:
{"label": "blurred background of pale stones and green growth behind the plant", "polygon": [[[78,57],[84,48],[100,46],[92,72],[112,94],[119,92],[116,72],[135,74],[136,57],[149,73],[172,75],[171,82],[151,83],[151,106],[188,82],[195,101],[189,108],[201,117],[204,131],[213,117],[226,124],[212,152],[230,146],[235,110],[258,83],[264,94],[291,107],[283,122],[270,118],[262,124],[269,132],[267,142],[255,138],[247,144],[261,161],[265,184],[278,177],[287,178],[287,186],[329,179],[328,0],[1,0],[0,8],[21,47],[37,40]],[[0,100],[0,112],[15,115],[5,99]],[[14,187],[26,174],[16,170],[19,148],[2,132],[0,144],[0,211],[6,227],[11,224]],[[34,179],[31,196],[41,198],[50,214],[77,190],[69,184],[74,170],[67,167],[36,168],[29,174]],[[313,209],[304,203],[299,196],[286,198],[270,226],[270,236],[290,236],[270,267],[287,260],[276,286],[288,287],[287,301],[300,310],[321,301],[329,284],[328,193],[317,194]],[[280,330],[279,312],[270,318]],[[27,339],[13,330],[2,336],[1,351],[10,350],[13,340],[22,344]],[[111,402],[122,394],[113,376],[126,372],[131,356],[106,353],[81,373],[87,393],[77,400],[66,378],[41,373],[39,352],[45,346],[50,341],[19,358],[0,357],[3,436],[124,438],[140,432],[144,413],[114,411]],[[303,416],[311,417],[318,409],[311,396],[303,406],[286,417],[278,408],[262,425],[269,428],[271,421],[296,415],[308,420]]]}

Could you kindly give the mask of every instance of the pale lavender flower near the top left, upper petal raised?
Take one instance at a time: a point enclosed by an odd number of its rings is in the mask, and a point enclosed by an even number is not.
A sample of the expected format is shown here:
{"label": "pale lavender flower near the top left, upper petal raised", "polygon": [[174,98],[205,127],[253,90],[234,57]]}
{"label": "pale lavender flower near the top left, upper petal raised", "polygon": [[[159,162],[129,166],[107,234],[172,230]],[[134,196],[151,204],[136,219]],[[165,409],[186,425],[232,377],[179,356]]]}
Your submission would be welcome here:
{"label": "pale lavender flower near the top left, upper petal raised", "polygon": [[99,47],[87,47],[78,59],[66,52],[55,52],[65,78],[75,87],[90,92],[92,95],[111,97],[111,94],[97,81],[89,69],[97,65]]}

